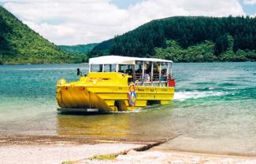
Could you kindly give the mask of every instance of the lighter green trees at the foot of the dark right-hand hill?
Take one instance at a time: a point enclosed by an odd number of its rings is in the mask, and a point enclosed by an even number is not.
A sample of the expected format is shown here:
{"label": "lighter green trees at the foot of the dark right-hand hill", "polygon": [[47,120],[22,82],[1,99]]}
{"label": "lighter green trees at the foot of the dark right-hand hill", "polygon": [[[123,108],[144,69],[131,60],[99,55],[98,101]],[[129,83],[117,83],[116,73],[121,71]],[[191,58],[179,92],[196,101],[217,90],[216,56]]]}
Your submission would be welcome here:
{"label": "lighter green trees at the foot of the dark right-hand hill", "polygon": [[174,62],[213,62],[213,61],[255,61],[256,53],[252,50],[232,49],[233,38],[227,36],[227,50],[220,54],[214,54],[216,45],[213,42],[205,41],[195,46],[182,48],[175,40],[166,42],[166,48],[155,48],[154,57],[173,60]]}

